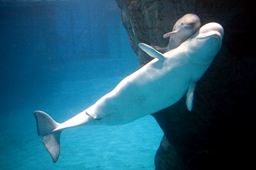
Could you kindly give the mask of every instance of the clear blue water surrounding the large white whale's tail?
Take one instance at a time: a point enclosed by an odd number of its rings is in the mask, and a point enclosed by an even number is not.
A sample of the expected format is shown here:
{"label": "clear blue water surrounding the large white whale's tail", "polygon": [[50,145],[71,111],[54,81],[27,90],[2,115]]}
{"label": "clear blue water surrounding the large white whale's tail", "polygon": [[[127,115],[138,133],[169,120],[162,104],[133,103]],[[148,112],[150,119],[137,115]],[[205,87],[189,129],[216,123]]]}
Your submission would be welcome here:
{"label": "clear blue water surrounding the large white whale's tail", "polygon": [[114,0],[0,3],[0,168],[154,169],[162,131],[148,115],[63,131],[57,163],[33,112],[64,122],[139,67]]}

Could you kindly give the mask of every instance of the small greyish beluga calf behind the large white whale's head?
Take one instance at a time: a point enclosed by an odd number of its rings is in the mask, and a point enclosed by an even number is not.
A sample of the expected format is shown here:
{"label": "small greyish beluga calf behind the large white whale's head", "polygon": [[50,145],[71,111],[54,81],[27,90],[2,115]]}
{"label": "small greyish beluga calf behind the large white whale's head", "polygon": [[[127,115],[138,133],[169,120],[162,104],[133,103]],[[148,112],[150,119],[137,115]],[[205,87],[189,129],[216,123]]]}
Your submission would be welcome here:
{"label": "small greyish beluga calf behind the large white whale's head", "polygon": [[160,52],[168,52],[178,47],[182,42],[195,34],[201,26],[200,18],[196,14],[186,14],[181,17],[174,25],[173,31],[163,35],[163,38],[169,37],[166,47],[156,46]]}

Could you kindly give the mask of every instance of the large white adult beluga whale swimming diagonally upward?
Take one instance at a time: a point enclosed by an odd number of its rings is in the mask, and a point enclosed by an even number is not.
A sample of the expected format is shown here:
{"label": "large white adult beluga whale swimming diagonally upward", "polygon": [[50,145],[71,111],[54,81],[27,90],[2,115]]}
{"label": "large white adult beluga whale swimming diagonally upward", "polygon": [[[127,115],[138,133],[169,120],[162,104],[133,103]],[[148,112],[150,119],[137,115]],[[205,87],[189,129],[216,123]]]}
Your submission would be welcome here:
{"label": "large white adult beluga whale swimming diagonally upward", "polygon": [[153,47],[139,47],[154,57],[124,78],[94,105],[59,124],[47,113],[35,111],[37,133],[56,162],[62,130],[80,125],[121,125],[152,114],[178,102],[186,94],[188,110],[193,107],[196,82],[200,80],[222,44],[224,30],[218,23],[204,25],[177,48],[161,54]]}

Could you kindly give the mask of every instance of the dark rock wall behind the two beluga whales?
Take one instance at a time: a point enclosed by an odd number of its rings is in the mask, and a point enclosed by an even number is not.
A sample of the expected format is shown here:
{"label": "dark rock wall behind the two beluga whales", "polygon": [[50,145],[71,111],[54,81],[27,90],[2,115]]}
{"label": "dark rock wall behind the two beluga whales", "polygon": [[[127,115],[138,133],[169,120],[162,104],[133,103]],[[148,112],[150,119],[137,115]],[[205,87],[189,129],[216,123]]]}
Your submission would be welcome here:
{"label": "dark rock wall behind the two beluga whales", "polygon": [[225,30],[221,51],[197,83],[194,108],[185,96],[153,116],[164,132],[155,157],[156,169],[239,168],[252,165],[252,114],[256,96],[253,54],[254,13],[251,1],[116,0],[123,26],[141,65],[152,58],[137,44],[166,46],[162,35],[187,13],[204,25],[218,22]]}

